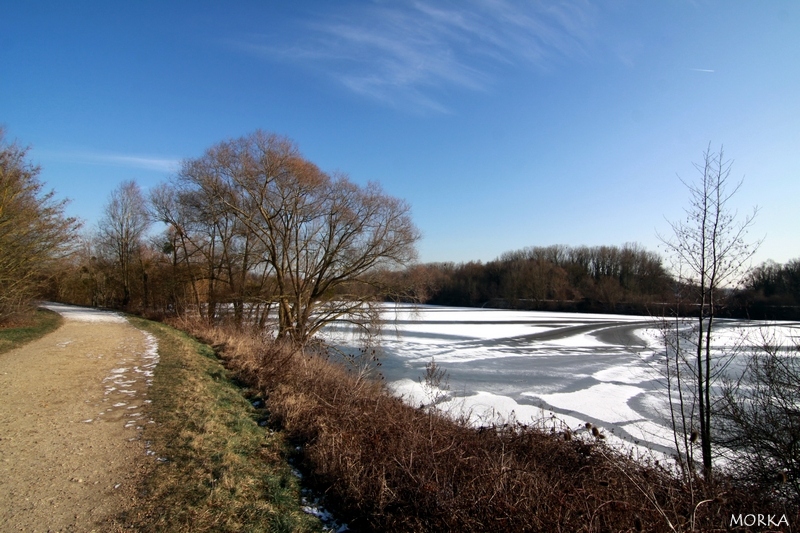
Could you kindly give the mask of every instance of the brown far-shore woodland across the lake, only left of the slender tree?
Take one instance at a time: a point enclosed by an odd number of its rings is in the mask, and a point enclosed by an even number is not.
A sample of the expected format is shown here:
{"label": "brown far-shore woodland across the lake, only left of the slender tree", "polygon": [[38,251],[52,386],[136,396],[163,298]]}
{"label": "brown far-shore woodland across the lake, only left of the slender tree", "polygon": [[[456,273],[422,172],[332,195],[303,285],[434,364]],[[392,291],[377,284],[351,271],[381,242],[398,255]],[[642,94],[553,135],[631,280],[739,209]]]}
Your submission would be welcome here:
{"label": "brown far-shore woodland across the lake, only left of the slender tree", "polygon": [[403,273],[416,300],[455,306],[535,309],[561,302],[665,301],[672,280],[658,254],[638,244],[534,246],[481,263],[429,263]]}

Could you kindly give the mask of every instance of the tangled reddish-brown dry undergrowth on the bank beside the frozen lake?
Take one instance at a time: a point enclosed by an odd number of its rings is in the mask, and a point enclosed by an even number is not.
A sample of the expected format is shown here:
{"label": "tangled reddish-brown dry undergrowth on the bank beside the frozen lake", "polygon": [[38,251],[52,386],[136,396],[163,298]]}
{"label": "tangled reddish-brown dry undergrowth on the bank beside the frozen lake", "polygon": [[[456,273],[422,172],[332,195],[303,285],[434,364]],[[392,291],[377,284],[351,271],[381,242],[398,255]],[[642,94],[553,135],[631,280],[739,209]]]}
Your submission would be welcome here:
{"label": "tangled reddish-brown dry undergrowth on the bank beside the frozen lake", "polygon": [[261,391],[271,423],[301,445],[306,481],[351,531],[725,531],[737,530],[732,516],[754,513],[786,515],[784,531],[797,523],[796,510],[721,476],[689,486],[591,428],[475,429],[412,408],[325,357],[219,327],[180,327]]}

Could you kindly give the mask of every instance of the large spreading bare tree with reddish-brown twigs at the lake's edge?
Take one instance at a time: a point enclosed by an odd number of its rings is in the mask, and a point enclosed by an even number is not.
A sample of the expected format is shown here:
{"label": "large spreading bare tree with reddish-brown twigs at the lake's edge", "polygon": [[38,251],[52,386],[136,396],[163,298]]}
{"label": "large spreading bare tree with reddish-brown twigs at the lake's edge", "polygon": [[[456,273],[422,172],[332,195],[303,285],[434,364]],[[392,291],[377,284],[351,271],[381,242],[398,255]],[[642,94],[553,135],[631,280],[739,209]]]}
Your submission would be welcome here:
{"label": "large spreading bare tree with reddish-brown twigs at the lake's edge", "polygon": [[262,131],[222,142],[179,174],[235,217],[271,280],[278,336],[306,343],[334,320],[365,331],[382,295],[381,269],[416,257],[405,202],[374,183],[330,176],[290,140]]}

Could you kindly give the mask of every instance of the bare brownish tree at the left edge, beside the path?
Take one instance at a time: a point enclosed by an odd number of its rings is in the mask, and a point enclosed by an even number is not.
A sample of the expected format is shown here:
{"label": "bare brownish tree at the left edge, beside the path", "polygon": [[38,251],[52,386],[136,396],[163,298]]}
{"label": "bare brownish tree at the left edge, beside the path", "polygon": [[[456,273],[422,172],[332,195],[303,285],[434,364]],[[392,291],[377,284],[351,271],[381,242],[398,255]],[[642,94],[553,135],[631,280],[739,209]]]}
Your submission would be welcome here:
{"label": "bare brownish tree at the left edge, beside the path", "polygon": [[43,192],[27,149],[6,143],[0,128],[0,322],[26,310],[48,265],[66,252],[78,222],[65,201]]}

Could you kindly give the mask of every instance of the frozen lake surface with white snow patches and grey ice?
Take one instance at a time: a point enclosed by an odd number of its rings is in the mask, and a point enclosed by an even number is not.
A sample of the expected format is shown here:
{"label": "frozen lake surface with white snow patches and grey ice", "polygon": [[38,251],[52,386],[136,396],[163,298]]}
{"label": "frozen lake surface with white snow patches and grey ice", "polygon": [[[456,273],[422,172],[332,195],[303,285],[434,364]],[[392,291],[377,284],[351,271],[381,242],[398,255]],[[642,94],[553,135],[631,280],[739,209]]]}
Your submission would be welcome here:
{"label": "frozen lake surface with white snow patches and grey ice", "polygon": [[[512,416],[531,423],[552,413],[572,429],[591,422],[610,440],[669,453],[663,347],[650,317],[387,305],[384,320],[380,371],[411,404],[437,395],[420,383],[433,359],[449,376],[439,407],[476,425]],[[765,326],[717,325],[719,346]],[[784,339],[800,335],[797,323],[769,327]],[[341,331],[334,338],[354,344]]]}

